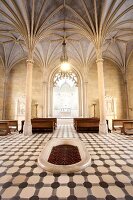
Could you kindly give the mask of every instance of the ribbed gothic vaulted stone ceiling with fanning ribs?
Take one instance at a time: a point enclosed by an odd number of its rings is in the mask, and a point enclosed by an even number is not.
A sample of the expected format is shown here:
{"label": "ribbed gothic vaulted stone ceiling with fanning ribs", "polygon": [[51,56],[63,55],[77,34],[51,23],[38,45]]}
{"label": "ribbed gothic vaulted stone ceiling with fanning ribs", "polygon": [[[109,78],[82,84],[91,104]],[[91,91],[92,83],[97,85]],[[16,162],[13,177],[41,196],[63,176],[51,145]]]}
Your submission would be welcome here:
{"label": "ribbed gothic vaulted stone ceiling with fanning ribs", "polygon": [[124,72],[133,50],[133,0],[0,0],[0,57],[5,69],[34,56],[42,67],[60,61],[64,27],[72,64],[103,57]]}

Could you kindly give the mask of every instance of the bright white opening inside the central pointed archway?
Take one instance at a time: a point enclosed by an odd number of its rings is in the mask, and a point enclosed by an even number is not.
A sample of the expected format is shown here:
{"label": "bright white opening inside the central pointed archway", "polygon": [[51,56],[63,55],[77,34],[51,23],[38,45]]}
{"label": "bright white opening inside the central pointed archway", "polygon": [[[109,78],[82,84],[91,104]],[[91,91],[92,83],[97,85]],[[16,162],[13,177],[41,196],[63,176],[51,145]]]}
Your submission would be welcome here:
{"label": "bright white opening inside the central pointed archway", "polygon": [[54,77],[53,115],[58,118],[79,116],[78,81],[74,72],[58,72]]}

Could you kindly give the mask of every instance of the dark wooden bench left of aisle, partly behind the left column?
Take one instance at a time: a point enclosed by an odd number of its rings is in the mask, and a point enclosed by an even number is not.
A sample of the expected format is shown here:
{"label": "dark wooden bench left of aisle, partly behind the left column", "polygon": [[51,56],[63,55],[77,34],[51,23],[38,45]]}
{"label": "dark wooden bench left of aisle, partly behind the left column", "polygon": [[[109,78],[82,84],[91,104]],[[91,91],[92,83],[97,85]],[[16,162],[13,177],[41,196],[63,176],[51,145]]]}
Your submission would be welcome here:
{"label": "dark wooden bench left of aisle, partly behind the left column", "polygon": [[[21,121],[21,130],[19,133],[23,133],[23,126],[24,126],[24,120]],[[54,131],[54,122],[52,120],[31,120],[32,124],[32,132],[33,133],[45,133],[45,132],[53,132]]]}

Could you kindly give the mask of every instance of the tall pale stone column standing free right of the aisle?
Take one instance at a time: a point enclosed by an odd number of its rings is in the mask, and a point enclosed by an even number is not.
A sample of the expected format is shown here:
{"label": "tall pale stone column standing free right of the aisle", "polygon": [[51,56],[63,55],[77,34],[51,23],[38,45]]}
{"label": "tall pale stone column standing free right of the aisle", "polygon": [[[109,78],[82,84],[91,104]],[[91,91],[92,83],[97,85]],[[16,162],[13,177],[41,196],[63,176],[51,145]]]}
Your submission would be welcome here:
{"label": "tall pale stone column standing free right of the aisle", "polygon": [[97,71],[98,71],[98,93],[99,93],[99,109],[100,109],[99,133],[107,134],[108,129],[107,129],[107,123],[106,123],[103,59],[97,58],[96,62],[97,62]]}

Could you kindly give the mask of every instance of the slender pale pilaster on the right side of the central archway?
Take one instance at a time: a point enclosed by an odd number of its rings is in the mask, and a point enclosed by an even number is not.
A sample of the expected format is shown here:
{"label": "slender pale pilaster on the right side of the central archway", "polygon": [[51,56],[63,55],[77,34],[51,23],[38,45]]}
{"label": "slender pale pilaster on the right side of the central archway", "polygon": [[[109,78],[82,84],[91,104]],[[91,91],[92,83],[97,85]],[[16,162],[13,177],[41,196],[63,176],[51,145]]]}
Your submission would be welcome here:
{"label": "slender pale pilaster on the right side of the central archway", "polygon": [[88,116],[88,82],[84,82],[84,117]]}

